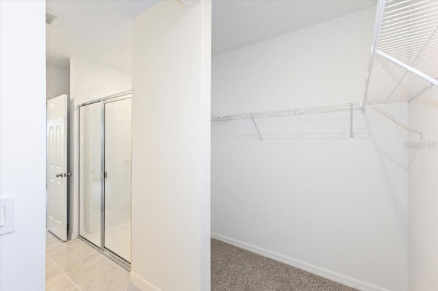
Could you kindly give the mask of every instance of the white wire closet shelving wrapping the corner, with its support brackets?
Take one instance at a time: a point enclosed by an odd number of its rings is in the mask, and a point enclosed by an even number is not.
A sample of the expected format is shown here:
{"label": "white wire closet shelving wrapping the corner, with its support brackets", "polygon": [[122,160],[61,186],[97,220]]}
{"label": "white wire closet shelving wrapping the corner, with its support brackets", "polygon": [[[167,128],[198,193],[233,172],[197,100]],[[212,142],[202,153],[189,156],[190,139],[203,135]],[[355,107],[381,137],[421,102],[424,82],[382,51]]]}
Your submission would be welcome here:
{"label": "white wire closet shelving wrapping the corner, with its support brackets", "polygon": [[[354,109],[365,110],[365,105],[376,109],[385,116],[394,120],[400,126],[422,135],[420,130],[411,126],[400,117],[387,111],[378,103],[386,103],[394,95],[396,89],[406,81],[407,74],[411,73],[428,82],[426,87],[420,87],[415,94],[409,96],[407,102],[420,97],[430,87],[438,86],[438,1],[437,0],[378,0],[376,20],[374,23],[374,37],[371,45],[370,61],[365,79],[365,92],[363,102],[348,102],[335,105],[320,105],[313,107],[299,107],[293,109],[271,110],[235,113],[227,115],[211,115],[211,121],[244,120],[252,119],[257,133],[259,129],[255,118],[281,117],[301,115],[309,113],[324,113],[335,111],[350,111],[351,136],[352,137],[352,112]],[[394,89],[383,102],[375,102],[369,98],[370,83],[380,82],[380,85],[388,86],[389,74],[385,61],[395,64],[402,72]],[[431,73],[430,73],[431,72]],[[431,77],[430,74],[433,76]],[[374,79],[372,78],[374,76]],[[373,94],[373,98],[374,98]],[[261,139],[261,135],[259,133]]]}

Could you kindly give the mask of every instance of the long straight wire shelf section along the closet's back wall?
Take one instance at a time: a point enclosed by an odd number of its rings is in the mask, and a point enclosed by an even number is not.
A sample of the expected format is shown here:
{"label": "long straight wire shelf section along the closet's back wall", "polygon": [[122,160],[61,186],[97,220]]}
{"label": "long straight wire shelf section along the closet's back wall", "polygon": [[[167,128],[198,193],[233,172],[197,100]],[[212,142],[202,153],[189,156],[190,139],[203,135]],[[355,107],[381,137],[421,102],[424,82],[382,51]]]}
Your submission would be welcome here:
{"label": "long straight wire shelf section along the closet's back wall", "polygon": [[327,112],[346,111],[346,110],[361,109],[361,108],[362,105],[360,102],[338,103],[335,105],[299,107],[299,108],[283,109],[283,110],[236,113],[236,114],[228,114],[228,115],[211,115],[211,121],[245,120],[245,119],[254,119],[254,118],[262,118],[262,117],[281,117],[281,116],[302,115],[309,113],[327,113]]}

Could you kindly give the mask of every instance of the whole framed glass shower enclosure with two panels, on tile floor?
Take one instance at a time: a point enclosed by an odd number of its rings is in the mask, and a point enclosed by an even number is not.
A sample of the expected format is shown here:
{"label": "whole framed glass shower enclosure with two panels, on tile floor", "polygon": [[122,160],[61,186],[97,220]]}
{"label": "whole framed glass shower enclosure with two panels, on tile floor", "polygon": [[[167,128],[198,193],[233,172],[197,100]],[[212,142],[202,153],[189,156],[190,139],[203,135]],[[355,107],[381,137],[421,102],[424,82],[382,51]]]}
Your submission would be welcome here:
{"label": "whole framed glass shower enclosure with two panels, on tile floor", "polygon": [[79,105],[79,236],[131,262],[131,92]]}

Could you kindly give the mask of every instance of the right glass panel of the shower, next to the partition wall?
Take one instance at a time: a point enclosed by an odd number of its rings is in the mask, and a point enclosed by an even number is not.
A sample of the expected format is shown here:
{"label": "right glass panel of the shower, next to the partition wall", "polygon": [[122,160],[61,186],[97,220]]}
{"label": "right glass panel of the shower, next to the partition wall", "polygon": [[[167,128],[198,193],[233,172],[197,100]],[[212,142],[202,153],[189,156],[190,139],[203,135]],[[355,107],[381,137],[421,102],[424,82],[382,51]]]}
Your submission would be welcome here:
{"label": "right glass panel of the shower, next to the partition wall", "polygon": [[131,99],[105,104],[104,247],[131,261]]}

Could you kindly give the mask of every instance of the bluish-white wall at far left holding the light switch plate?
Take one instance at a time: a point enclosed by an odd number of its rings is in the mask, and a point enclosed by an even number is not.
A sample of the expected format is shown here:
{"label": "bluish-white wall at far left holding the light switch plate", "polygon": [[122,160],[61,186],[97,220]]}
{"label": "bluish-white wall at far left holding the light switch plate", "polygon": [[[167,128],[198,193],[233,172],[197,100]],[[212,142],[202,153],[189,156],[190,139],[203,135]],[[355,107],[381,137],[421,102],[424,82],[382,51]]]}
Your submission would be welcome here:
{"label": "bluish-white wall at far left holding the light switch plate", "polygon": [[0,236],[5,291],[44,290],[44,11],[45,1],[0,1],[0,196],[15,196],[15,232]]}

